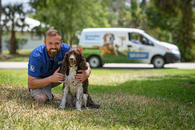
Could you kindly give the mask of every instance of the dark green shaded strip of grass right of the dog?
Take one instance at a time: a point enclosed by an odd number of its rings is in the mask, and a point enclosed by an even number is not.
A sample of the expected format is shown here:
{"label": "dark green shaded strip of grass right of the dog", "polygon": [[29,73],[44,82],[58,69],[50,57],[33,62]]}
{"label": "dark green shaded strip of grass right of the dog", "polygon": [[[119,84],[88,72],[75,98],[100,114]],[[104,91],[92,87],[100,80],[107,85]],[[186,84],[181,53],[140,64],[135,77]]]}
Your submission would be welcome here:
{"label": "dark green shaded strip of grass right of the dog", "polygon": [[195,103],[195,75],[149,77],[146,80],[131,80],[119,85],[90,85],[91,93],[122,92],[150,98],[162,98],[180,103]]}

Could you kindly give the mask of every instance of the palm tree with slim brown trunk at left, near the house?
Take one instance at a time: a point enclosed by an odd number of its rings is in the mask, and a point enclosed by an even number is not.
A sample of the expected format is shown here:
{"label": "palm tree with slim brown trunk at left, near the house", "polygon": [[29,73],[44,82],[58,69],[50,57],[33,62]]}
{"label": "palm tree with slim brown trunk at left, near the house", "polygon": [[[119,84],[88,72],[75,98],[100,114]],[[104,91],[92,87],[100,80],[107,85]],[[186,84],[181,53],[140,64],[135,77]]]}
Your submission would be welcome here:
{"label": "palm tree with slim brown trunk at left, near the house", "polygon": [[28,26],[25,23],[25,12],[22,4],[6,5],[3,7],[5,18],[2,20],[5,29],[11,33],[10,36],[10,54],[16,54],[16,30],[23,31]]}

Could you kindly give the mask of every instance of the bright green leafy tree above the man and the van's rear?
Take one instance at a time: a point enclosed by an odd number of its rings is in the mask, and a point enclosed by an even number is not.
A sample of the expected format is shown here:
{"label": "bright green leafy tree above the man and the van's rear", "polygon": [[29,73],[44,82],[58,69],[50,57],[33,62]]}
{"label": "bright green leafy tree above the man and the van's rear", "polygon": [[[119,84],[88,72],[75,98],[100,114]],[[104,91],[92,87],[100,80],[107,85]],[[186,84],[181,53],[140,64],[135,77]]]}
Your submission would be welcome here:
{"label": "bright green leafy tree above the man and the van's rear", "polygon": [[106,9],[97,0],[31,0],[33,17],[59,30],[66,43],[73,44],[76,32],[86,27],[108,26]]}

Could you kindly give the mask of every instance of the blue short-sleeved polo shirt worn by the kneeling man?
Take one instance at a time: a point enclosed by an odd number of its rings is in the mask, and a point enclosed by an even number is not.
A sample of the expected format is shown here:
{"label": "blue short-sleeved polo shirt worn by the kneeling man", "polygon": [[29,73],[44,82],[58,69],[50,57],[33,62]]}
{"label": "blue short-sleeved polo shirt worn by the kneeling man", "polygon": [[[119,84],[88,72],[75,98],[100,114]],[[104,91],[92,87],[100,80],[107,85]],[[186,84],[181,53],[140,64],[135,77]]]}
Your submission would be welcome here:
{"label": "blue short-sleeved polo shirt worn by the kneeling man", "polygon": [[[40,45],[35,48],[29,57],[28,75],[37,78],[45,78],[52,75],[55,70],[62,65],[65,53],[70,50],[70,46],[62,43],[60,52],[52,59],[48,56],[46,46]],[[50,68],[51,60],[53,60],[53,67]]]}

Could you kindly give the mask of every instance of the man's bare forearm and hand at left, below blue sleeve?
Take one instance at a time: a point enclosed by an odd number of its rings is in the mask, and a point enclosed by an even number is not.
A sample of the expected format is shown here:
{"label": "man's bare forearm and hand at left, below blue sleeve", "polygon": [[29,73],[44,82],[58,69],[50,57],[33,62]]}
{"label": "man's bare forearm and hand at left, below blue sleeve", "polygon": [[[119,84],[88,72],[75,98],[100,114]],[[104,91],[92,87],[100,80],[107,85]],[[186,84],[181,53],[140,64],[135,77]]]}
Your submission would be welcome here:
{"label": "man's bare forearm and hand at left, below blue sleeve", "polygon": [[64,82],[64,75],[58,73],[60,68],[58,68],[53,75],[46,77],[46,78],[36,78],[28,75],[28,88],[36,89],[36,88],[43,88],[50,83],[63,83]]}

